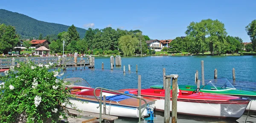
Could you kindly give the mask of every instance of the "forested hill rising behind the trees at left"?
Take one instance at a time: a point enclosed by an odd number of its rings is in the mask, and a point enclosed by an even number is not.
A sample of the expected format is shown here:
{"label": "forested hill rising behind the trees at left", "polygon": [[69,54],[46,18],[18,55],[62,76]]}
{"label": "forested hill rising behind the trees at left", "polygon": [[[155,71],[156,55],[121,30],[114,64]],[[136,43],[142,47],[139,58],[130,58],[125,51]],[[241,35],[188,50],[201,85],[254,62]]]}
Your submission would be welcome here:
{"label": "forested hill rising behind the trees at left", "polygon": [[[15,26],[17,33],[23,38],[38,37],[40,33],[44,37],[48,34],[57,35],[62,31],[67,31],[69,28],[66,25],[36,20],[24,14],[5,9],[0,9],[0,23]],[[82,28],[76,28],[76,30],[79,32],[80,37],[83,38],[86,30]]]}

